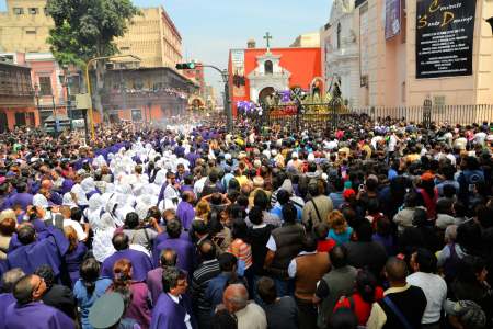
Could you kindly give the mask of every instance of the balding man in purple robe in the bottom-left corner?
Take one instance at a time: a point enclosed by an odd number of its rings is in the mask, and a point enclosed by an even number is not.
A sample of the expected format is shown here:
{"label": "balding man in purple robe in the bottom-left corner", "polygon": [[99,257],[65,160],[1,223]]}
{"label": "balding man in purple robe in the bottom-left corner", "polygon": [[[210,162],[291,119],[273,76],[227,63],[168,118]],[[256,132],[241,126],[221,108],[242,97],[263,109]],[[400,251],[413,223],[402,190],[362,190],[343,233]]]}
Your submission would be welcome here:
{"label": "balding man in purple robe in the bottom-left corner", "polygon": [[71,329],[74,322],[62,311],[41,303],[46,284],[37,275],[22,277],[13,288],[16,303],[5,309],[9,329]]}

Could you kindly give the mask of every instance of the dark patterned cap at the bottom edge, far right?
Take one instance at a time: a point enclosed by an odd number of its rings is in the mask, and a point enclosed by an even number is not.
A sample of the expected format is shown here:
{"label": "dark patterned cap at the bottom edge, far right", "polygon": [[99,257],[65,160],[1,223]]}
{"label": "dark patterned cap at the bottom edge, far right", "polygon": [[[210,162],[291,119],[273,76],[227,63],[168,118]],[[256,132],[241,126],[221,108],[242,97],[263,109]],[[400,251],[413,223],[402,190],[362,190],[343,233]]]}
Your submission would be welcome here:
{"label": "dark patterned cap at the bottom edge, far right", "polygon": [[472,300],[445,300],[444,309],[448,315],[459,318],[463,328],[482,329],[486,327],[484,310]]}

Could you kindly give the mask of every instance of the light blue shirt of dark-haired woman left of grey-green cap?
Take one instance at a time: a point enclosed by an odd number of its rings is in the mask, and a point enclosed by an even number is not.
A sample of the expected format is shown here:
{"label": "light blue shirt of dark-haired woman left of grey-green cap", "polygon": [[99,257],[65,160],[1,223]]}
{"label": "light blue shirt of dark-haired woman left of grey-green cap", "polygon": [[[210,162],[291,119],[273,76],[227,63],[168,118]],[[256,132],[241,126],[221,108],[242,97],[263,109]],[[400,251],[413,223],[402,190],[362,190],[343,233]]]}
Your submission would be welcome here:
{"label": "light blue shirt of dark-haired woman left of grey-green cap", "polygon": [[77,304],[80,307],[81,322],[82,329],[92,329],[92,326],[89,324],[89,309],[94,304],[94,302],[104,295],[107,287],[112,284],[112,281],[107,277],[100,277],[95,282],[94,292],[91,295],[88,294],[88,290],[81,280],[76,282],[76,286],[73,287],[73,295],[76,296]]}

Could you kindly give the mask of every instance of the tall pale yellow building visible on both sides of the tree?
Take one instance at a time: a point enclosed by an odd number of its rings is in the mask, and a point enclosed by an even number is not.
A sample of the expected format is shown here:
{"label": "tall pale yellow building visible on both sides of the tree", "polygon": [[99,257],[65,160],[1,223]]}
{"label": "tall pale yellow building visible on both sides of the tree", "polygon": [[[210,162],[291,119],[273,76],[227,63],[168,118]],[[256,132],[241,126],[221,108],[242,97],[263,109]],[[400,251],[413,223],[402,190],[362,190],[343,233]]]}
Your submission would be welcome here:
{"label": "tall pale yellow building visible on both sides of the tree", "polygon": [[[22,14],[14,10],[22,8]],[[32,14],[30,9],[36,8]],[[53,20],[45,14],[46,0],[7,0],[7,12],[0,13],[0,52],[48,53],[47,37]],[[142,59],[141,67],[172,67],[182,60],[182,41],[174,32],[164,10],[141,9],[133,19],[125,36],[116,38],[122,54],[133,54]]]}

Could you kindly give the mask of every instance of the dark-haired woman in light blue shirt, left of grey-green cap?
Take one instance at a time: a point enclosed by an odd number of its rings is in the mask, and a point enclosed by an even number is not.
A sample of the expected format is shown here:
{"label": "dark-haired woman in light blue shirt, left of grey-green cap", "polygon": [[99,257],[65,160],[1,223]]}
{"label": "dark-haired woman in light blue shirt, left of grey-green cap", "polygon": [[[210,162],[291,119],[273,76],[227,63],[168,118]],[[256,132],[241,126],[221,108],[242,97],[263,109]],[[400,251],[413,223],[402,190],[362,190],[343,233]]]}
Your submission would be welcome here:
{"label": "dark-haired woman in light blue shirt, left of grey-green cap", "polygon": [[80,309],[82,329],[92,329],[89,309],[106,292],[111,279],[100,276],[100,263],[94,258],[85,259],[80,265],[80,279],[73,287],[73,295]]}

